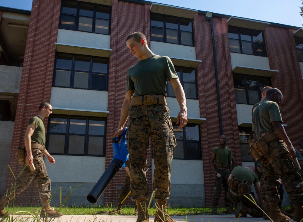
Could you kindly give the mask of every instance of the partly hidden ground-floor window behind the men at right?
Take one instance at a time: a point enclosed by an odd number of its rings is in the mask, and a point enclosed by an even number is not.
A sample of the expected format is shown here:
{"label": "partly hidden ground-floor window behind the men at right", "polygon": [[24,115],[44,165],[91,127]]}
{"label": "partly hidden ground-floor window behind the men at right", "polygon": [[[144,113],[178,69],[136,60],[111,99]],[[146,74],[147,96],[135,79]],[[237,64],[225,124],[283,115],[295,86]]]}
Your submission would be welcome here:
{"label": "partly hidden ground-floor window behind the men at right", "polygon": [[242,162],[255,162],[254,158],[248,155],[248,137],[252,135],[250,127],[239,127],[240,148]]}

